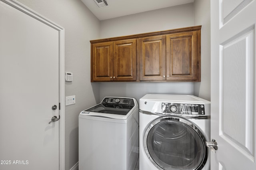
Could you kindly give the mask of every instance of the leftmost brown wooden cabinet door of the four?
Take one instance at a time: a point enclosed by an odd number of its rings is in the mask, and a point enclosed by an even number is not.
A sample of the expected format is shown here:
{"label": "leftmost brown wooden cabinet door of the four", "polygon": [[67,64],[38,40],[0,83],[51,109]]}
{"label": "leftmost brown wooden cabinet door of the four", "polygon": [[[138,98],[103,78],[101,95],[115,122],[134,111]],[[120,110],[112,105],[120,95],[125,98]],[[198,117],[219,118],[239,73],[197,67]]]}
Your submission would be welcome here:
{"label": "leftmost brown wooden cabinet door of the four", "polygon": [[113,80],[113,42],[92,44],[92,81]]}

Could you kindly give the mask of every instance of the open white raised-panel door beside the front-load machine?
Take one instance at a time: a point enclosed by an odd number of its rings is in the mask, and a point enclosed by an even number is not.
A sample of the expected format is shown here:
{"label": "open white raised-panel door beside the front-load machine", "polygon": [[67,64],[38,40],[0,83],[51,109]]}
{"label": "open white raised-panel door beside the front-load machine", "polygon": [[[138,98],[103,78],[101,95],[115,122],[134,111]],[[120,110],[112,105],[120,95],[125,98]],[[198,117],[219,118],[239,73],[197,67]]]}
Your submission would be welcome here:
{"label": "open white raised-panel door beside the front-load machine", "polygon": [[211,0],[212,170],[256,169],[255,0]]}

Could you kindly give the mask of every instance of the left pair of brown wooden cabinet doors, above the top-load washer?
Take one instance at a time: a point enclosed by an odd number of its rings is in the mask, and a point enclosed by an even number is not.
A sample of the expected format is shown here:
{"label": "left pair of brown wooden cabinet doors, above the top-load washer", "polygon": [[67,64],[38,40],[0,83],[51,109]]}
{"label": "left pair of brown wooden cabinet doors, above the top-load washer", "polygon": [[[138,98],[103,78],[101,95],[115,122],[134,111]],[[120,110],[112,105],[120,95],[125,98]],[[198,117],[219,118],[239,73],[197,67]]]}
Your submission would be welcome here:
{"label": "left pair of brown wooden cabinet doors, above the top-load washer", "polygon": [[135,81],[136,39],[91,45],[92,81]]}

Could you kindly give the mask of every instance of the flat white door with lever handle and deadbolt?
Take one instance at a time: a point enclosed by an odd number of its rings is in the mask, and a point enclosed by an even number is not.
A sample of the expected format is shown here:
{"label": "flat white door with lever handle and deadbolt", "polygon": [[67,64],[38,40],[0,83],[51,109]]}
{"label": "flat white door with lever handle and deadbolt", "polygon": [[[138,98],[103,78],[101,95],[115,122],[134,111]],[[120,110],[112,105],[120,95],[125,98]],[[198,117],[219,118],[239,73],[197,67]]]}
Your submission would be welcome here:
{"label": "flat white door with lever handle and deadbolt", "polygon": [[0,169],[58,170],[54,116],[59,32],[0,1]]}

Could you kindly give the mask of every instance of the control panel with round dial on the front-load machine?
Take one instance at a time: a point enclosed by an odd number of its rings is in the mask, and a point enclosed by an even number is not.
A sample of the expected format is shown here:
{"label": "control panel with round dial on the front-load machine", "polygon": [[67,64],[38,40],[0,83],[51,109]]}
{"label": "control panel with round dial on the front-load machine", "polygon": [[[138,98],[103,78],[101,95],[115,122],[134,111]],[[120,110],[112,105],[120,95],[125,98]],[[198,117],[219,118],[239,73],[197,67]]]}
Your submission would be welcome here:
{"label": "control panel with round dial on the front-load machine", "polygon": [[203,104],[162,103],[162,113],[182,115],[205,115]]}

